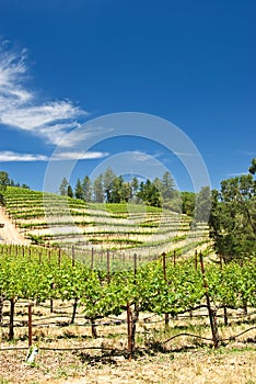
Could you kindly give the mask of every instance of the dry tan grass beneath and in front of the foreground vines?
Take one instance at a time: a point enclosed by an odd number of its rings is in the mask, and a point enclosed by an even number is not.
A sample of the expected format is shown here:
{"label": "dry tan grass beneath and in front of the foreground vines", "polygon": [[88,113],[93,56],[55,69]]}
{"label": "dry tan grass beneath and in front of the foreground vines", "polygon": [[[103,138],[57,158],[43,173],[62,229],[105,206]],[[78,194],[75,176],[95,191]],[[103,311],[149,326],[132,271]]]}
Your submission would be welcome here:
{"label": "dry tan grass beneath and in front of the foreground vines", "polygon": [[[66,320],[70,318],[71,308]],[[7,307],[4,308],[7,313]],[[57,308],[56,308],[57,309]],[[198,314],[198,313],[197,313]],[[202,313],[201,313],[202,314]],[[56,316],[56,314],[54,314]],[[81,308],[80,314],[81,316]],[[196,313],[195,313],[196,315]],[[231,316],[233,315],[233,317]],[[219,319],[220,334],[223,338],[242,332],[254,326],[255,315],[242,323],[230,313],[231,325],[223,327]],[[49,316],[49,309],[34,307],[34,321]],[[26,319],[26,307],[18,307],[16,320]],[[60,319],[60,318],[59,318]],[[63,320],[65,318],[62,318]],[[120,316],[125,319],[125,314]],[[177,384],[253,384],[256,383],[255,329],[226,342],[219,350],[212,350],[211,342],[182,336],[167,343],[162,343],[176,334],[189,332],[211,337],[207,317],[179,317],[171,319],[170,331],[163,331],[161,318],[143,314],[138,324],[138,352],[131,361],[126,353],[126,324],[98,326],[98,338],[91,338],[91,329],[78,324],[70,326],[44,326],[33,328],[34,342],[39,345],[39,353],[34,366],[25,364],[25,351],[0,352],[0,384],[96,384],[96,383],[177,383]],[[7,318],[5,318],[7,320]],[[104,319],[106,320],[106,319]],[[108,319],[109,320],[109,319]],[[43,323],[42,321],[42,323]],[[53,321],[57,323],[56,317]],[[51,323],[51,320],[50,320]],[[5,341],[7,328],[2,328],[1,348],[10,347]],[[15,329],[14,347],[27,346],[27,329]],[[42,348],[70,348],[70,351],[43,350]],[[74,348],[98,347],[98,350],[72,350]],[[102,349],[101,349],[102,348]],[[103,350],[109,348],[115,351]],[[117,351],[118,350],[118,351]],[[1,379],[2,377],[2,379]]]}

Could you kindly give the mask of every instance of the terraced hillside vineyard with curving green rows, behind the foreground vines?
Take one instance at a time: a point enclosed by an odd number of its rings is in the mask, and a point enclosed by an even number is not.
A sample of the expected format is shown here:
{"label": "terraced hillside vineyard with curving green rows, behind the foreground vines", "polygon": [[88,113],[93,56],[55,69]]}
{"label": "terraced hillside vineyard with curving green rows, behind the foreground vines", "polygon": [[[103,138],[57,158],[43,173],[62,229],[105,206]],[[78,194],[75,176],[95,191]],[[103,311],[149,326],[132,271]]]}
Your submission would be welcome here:
{"label": "terraced hillside vineyard with curving green rows, behind the foreground vines", "polygon": [[34,244],[98,252],[109,250],[155,257],[176,250],[190,255],[209,248],[202,223],[190,229],[190,218],[142,204],[93,204],[27,189],[8,188],[5,211],[20,231]]}

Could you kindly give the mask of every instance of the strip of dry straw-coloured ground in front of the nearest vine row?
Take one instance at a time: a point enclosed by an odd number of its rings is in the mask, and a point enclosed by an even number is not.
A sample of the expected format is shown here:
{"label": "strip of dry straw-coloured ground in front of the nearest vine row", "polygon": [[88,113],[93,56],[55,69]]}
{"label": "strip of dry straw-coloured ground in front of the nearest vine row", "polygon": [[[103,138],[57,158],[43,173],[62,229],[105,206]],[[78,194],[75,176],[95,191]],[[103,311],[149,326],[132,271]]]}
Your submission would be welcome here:
{"label": "strip of dry straw-coloured ground in front of the nearest vine row", "polygon": [[131,362],[124,357],[90,360],[85,352],[42,351],[35,366],[30,366],[24,363],[25,354],[23,351],[1,352],[0,383],[256,383],[256,350],[238,345],[219,351],[195,349],[142,355]]}

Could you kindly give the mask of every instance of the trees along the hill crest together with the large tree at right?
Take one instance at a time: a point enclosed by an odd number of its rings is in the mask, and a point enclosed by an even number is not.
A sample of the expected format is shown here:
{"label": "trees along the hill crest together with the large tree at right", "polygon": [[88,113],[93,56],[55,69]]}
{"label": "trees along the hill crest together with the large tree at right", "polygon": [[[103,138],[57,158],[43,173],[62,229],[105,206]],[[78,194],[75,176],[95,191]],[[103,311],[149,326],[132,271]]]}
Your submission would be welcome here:
{"label": "trees along the hill crest together with the large tree at right", "polygon": [[199,222],[209,224],[209,235],[216,252],[225,261],[244,262],[256,255],[256,158],[247,173],[221,181],[220,190],[203,187],[199,193],[178,192],[170,172],[162,179],[139,182],[137,178],[125,181],[110,169],[94,182],[89,177],[78,180],[74,192],[67,179],[60,193],[91,202],[143,202],[167,207],[191,217],[190,226]]}

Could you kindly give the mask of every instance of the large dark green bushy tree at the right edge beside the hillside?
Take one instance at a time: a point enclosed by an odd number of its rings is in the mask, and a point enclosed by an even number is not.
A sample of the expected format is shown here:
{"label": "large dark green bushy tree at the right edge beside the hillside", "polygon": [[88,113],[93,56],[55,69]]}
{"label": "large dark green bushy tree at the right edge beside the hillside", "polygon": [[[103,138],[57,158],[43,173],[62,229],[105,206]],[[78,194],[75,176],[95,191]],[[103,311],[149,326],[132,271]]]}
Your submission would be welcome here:
{"label": "large dark green bushy tree at the right edge beside the hillside", "polygon": [[256,182],[252,174],[223,180],[212,192],[210,236],[218,253],[244,260],[256,252]]}

